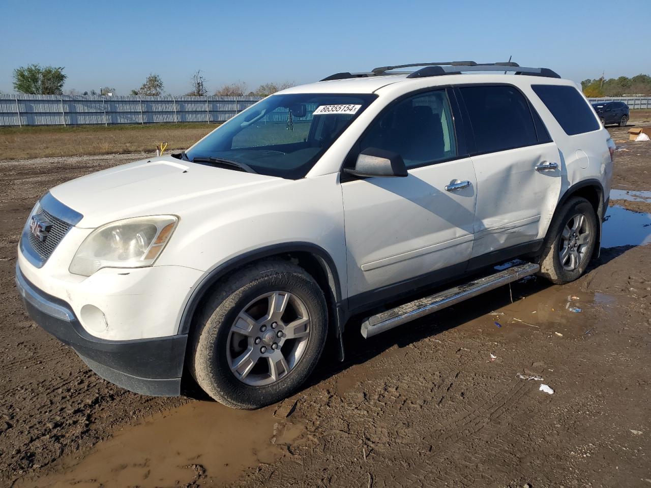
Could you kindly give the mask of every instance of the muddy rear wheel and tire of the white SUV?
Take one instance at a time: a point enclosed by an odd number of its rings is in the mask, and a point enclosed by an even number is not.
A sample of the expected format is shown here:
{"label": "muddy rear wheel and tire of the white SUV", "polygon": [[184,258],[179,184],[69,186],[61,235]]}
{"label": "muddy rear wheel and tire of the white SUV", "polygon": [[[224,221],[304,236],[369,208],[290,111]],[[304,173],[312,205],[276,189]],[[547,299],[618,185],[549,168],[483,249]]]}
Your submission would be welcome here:
{"label": "muddy rear wheel and tire of the white SUV", "polygon": [[592,258],[597,232],[597,217],[590,202],[570,198],[549,225],[538,274],[555,284],[581,277]]}

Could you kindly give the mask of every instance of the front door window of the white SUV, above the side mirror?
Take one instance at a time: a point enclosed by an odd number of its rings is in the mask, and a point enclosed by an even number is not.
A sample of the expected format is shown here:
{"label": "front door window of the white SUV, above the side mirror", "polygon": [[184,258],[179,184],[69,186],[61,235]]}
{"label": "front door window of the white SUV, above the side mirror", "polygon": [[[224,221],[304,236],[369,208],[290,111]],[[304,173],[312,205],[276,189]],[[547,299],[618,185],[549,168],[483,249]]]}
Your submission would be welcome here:
{"label": "front door window of the white SUV, above the side mirror", "polygon": [[361,139],[359,150],[369,147],[400,154],[408,169],[456,156],[445,90],[419,93],[389,107]]}

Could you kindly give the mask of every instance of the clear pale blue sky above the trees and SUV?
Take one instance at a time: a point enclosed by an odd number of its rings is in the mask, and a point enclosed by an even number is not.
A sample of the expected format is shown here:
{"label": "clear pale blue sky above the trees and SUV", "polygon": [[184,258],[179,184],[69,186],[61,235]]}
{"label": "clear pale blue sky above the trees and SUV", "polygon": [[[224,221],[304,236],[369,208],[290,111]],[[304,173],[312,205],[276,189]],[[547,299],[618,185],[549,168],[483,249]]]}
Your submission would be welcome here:
{"label": "clear pale blue sky above the trees and SUV", "polygon": [[201,70],[212,93],[235,81],[253,90],[509,56],[574,81],[651,74],[647,1],[0,0],[0,92],[13,92],[14,68],[32,63],[64,66],[64,90],[116,94],[150,73],[165,92],[185,94]]}

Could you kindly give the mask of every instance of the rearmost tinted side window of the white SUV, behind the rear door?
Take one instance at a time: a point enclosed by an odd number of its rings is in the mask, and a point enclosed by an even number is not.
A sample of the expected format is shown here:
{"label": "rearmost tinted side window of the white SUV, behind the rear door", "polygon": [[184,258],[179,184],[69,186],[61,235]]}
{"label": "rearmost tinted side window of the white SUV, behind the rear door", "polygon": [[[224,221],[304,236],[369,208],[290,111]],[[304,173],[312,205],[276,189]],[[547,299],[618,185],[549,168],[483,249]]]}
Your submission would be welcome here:
{"label": "rearmost tinted side window of the white SUV, behind the rear door", "polygon": [[599,129],[594,112],[576,88],[559,85],[531,85],[531,88],[567,135]]}

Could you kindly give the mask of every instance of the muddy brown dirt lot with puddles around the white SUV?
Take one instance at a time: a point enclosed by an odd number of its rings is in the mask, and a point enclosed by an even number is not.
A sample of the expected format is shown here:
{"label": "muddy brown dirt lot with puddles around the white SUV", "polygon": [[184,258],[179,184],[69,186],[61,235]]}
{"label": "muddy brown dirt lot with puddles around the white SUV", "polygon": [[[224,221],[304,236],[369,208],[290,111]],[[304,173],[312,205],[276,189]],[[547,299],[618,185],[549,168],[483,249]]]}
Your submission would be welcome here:
{"label": "muddy brown dirt lot with puddles around the white SUV", "polygon": [[255,412],[126,392],[23,312],[36,198],[142,154],[0,161],[0,485],[651,487],[651,200],[624,199],[651,190],[651,144],[618,146],[624,192],[581,280],[522,280],[367,341],[353,319],[345,362]]}

